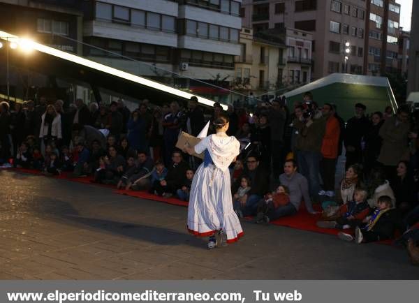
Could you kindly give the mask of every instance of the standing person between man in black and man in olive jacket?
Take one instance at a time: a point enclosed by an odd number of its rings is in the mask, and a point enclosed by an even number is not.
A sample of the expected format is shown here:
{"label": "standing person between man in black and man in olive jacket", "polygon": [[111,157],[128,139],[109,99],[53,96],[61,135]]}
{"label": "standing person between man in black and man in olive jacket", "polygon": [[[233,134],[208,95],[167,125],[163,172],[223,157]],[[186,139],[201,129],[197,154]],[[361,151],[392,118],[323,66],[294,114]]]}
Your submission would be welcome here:
{"label": "standing person between man in black and man in olive jacket", "polygon": [[381,150],[382,139],[379,135],[380,128],[383,126],[383,114],[374,112],[372,114],[372,124],[365,133],[365,149],[364,149],[364,172],[368,176],[372,168],[376,167],[376,161]]}

